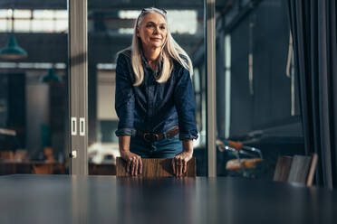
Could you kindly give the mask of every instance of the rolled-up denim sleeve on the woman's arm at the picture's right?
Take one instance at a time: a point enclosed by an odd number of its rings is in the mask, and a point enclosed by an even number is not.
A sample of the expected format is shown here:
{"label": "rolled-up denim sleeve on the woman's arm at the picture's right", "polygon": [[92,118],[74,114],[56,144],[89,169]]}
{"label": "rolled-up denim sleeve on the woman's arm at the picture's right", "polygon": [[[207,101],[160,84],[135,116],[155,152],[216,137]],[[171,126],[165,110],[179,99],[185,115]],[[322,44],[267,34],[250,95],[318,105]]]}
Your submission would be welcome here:
{"label": "rolled-up denim sleeve on the woman's arm at the picture's right", "polygon": [[182,69],[174,92],[178,112],[179,139],[197,139],[196,102],[189,71]]}

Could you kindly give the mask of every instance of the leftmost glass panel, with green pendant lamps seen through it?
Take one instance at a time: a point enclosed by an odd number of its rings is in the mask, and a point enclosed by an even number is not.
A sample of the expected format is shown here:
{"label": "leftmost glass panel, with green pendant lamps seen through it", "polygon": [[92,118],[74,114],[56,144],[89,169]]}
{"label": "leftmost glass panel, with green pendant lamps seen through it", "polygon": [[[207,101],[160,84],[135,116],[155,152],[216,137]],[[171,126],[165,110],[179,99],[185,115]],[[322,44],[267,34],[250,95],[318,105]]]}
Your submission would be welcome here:
{"label": "leftmost glass panel, with green pendant lamps seen through it", "polygon": [[0,175],[69,173],[67,1],[0,3]]}

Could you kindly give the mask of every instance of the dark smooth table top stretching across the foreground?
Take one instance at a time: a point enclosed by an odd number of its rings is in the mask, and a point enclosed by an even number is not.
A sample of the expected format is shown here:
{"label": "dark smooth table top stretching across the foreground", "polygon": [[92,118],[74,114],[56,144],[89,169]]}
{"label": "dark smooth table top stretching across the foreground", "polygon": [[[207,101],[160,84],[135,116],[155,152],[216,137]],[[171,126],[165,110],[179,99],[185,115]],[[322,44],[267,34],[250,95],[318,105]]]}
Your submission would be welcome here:
{"label": "dark smooth table top stretching across the foreground", "polygon": [[0,177],[0,223],[337,223],[337,193],[233,178]]}

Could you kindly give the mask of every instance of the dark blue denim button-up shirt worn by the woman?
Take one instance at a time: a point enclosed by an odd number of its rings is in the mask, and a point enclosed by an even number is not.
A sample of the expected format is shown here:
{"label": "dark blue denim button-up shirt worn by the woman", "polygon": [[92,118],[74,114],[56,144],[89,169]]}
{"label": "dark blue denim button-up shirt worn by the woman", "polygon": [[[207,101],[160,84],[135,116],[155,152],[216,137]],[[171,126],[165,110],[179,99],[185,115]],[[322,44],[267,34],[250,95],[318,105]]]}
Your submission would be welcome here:
{"label": "dark blue denim button-up shirt worn by the woman", "polygon": [[[133,86],[130,50],[117,58],[115,109],[119,117],[116,135],[136,135],[136,130],[156,134],[179,126],[179,139],[197,139],[196,103],[189,71],[178,61],[167,82],[158,83],[144,55],[144,79]],[[160,66],[159,71],[160,72]]]}

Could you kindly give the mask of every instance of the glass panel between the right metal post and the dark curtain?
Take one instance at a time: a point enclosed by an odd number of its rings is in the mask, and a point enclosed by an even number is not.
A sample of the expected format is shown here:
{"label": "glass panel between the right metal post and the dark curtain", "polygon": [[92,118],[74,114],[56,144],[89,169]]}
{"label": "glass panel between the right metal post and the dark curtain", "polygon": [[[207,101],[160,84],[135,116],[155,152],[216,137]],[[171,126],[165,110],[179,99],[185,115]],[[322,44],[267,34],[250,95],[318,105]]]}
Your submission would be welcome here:
{"label": "glass panel between the right metal post and the dark curtain", "polygon": [[217,1],[217,174],[272,179],[300,116],[287,3]]}

